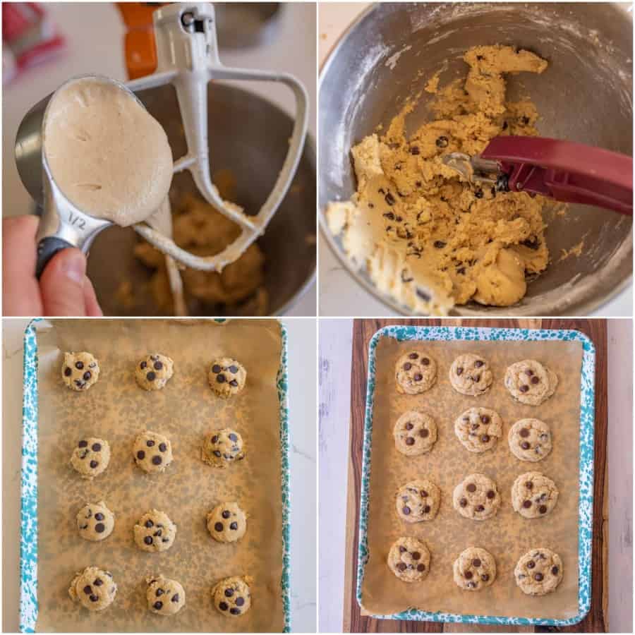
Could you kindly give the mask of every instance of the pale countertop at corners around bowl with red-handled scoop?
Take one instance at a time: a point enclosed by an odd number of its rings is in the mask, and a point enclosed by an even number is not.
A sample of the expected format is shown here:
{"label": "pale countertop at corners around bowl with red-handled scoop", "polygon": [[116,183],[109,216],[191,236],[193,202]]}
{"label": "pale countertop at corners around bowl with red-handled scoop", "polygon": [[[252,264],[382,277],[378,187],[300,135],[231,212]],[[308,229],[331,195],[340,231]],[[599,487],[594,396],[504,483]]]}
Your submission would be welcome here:
{"label": "pale countertop at corners around bowl with red-handled scoop", "polygon": [[[318,7],[317,59],[320,67],[346,28],[370,3],[322,2]],[[321,230],[320,230],[321,231]],[[320,277],[320,315],[356,317],[401,317],[358,284],[339,262],[330,246],[320,240],[317,270]],[[630,317],[633,315],[633,284],[598,308],[593,315]]]}

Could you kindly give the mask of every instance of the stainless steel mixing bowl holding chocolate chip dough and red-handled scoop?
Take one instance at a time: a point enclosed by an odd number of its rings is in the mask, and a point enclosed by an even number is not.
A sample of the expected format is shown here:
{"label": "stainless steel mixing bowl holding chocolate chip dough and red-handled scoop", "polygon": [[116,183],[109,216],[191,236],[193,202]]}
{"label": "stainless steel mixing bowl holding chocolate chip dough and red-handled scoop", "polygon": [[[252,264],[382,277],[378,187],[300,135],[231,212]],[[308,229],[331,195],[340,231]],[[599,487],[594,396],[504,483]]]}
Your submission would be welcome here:
{"label": "stainless steel mixing bowl holding chocolate chip dough and red-handled scoop", "polygon": [[[543,75],[508,78],[509,95],[528,94],[538,107],[541,135],[632,154],[632,17],[622,4],[378,4],[341,37],[320,75],[319,202],[321,238],[368,291],[382,296],[368,275],[357,272],[330,234],[324,211],[355,191],[352,145],[387,126],[413,89],[423,88],[447,64],[440,85],[465,75],[461,56],[476,44],[512,44],[549,61]],[[424,93],[424,95],[426,95]],[[425,98],[409,116],[415,129],[429,114]],[[629,283],[632,220],[614,212],[571,205],[549,217],[552,262],[528,285],[519,304],[476,303],[456,315],[584,315]],[[559,261],[562,249],[584,241],[580,257]]]}

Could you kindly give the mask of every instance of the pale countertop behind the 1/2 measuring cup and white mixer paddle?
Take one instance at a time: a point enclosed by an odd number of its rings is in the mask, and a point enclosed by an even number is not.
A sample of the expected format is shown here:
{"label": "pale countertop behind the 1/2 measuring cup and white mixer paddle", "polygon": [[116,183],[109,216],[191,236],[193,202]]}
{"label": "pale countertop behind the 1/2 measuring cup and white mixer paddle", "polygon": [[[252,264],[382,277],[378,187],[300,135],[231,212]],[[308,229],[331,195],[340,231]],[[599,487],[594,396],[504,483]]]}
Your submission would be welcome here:
{"label": "pale countertop behind the 1/2 measuring cup and white mixer paddle", "polygon": [[[18,176],[13,145],[18,125],[25,113],[56,87],[74,75],[101,73],[126,80],[123,59],[123,24],[119,11],[110,2],[47,3],[46,10],[66,37],[66,52],[28,73],[20,75],[3,89],[2,95],[2,214],[27,214],[32,200]],[[309,95],[309,132],[315,138],[315,53],[307,54],[306,42],[315,40],[314,3],[289,3],[277,24],[277,37],[257,47],[221,49],[226,66],[264,68],[296,75]],[[289,54],[293,50],[302,54]],[[294,97],[281,85],[250,82],[248,90],[269,99],[289,114],[294,113]],[[315,315],[315,282],[288,315]]]}

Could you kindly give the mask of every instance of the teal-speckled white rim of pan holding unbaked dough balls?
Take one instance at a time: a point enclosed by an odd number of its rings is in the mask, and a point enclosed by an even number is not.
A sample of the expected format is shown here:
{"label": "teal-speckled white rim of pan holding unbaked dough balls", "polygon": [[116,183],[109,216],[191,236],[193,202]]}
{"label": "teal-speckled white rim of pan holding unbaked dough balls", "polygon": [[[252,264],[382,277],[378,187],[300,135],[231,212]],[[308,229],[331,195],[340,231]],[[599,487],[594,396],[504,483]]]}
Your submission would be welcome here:
{"label": "teal-speckled white rim of pan holding unbaked dough balls", "polygon": [[[22,480],[20,484],[20,632],[35,633],[37,623],[37,322],[29,322],[24,332],[22,401]],[[219,325],[224,319],[214,320]],[[284,633],[291,631],[291,526],[289,497],[289,375],[287,333],[282,323],[282,350],[276,378],[280,413],[282,457],[282,607]]]}

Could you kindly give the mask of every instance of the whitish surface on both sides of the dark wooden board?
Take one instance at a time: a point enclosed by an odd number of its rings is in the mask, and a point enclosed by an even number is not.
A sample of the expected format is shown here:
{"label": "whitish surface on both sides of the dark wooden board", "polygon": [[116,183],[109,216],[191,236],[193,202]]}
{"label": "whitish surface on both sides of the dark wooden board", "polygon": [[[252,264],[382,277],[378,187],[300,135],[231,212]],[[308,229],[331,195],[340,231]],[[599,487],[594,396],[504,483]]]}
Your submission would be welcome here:
{"label": "whitish surface on both sides of the dark wooden board", "polygon": [[[631,320],[608,320],[609,628],[633,629]],[[320,319],[320,632],[341,631],[353,320]],[[326,493],[325,493],[326,492]]]}

